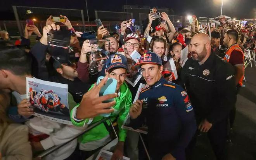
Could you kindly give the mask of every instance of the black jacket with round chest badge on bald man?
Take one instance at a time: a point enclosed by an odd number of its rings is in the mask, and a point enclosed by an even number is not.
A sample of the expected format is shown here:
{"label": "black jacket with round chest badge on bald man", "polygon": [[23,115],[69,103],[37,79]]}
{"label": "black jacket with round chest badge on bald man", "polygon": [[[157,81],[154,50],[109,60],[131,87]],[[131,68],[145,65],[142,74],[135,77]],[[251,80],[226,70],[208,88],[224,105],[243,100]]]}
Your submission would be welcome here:
{"label": "black jacket with round chest badge on bald man", "polygon": [[197,123],[207,119],[214,124],[227,118],[236,99],[235,69],[214,53],[202,65],[192,58],[180,77],[190,96]]}

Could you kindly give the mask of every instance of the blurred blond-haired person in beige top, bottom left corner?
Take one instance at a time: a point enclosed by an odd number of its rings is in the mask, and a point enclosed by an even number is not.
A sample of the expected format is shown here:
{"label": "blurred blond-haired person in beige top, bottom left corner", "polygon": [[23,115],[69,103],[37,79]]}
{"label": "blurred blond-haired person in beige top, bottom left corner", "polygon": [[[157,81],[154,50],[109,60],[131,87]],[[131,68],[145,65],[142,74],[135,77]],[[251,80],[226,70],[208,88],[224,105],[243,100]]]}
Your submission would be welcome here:
{"label": "blurred blond-haired person in beige top, bottom left corner", "polygon": [[7,117],[10,93],[0,90],[0,152],[1,160],[32,160],[28,127],[12,123]]}

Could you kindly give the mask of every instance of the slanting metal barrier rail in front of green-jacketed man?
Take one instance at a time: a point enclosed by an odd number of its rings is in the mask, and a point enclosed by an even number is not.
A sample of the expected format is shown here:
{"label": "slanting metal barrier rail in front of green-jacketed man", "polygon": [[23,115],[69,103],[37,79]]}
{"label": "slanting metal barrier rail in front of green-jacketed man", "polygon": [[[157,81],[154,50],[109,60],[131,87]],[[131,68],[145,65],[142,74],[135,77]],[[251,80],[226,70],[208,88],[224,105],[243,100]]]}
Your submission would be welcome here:
{"label": "slanting metal barrier rail in front of green-jacketed man", "polygon": [[[47,156],[47,155],[53,153],[54,151],[58,150],[58,149],[61,148],[62,146],[67,145],[67,143],[70,143],[70,142],[73,141],[74,139],[80,137],[80,136],[83,135],[85,132],[90,131],[90,130],[93,129],[94,127],[98,126],[98,125],[101,124],[102,122],[104,122],[104,121],[106,121],[106,120],[109,120],[109,119],[110,119],[110,117],[107,117],[107,118],[102,119],[102,120],[100,120],[100,121],[98,121],[98,122],[95,122],[94,124],[88,126],[88,127],[85,129],[84,132],[82,132],[81,134],[75,136],[73,139],[71,139],[71,140],[67,141],[66,143],[63,143],[63,144],[61,144],[61,145],[59,145],[59,146],[53,146],[52,148],[49,148],[48,150],[44,151],[43,153],[40,153],[39,155],[37,155],[37,157],[43,158],[43,157],[45,157],[45,156]],[[110,122],[111,122],[111,121],[110,121]],[[114,126],[113,126],[112,122],[111,122],[111,126],[112,126],[112,129],[113,129],[113,131],[114,131],[114,133],[115,133],[115,135],[116,135],[116,138],[117,138],[117,134],[116,134],[116,131],[114,130]]]}

